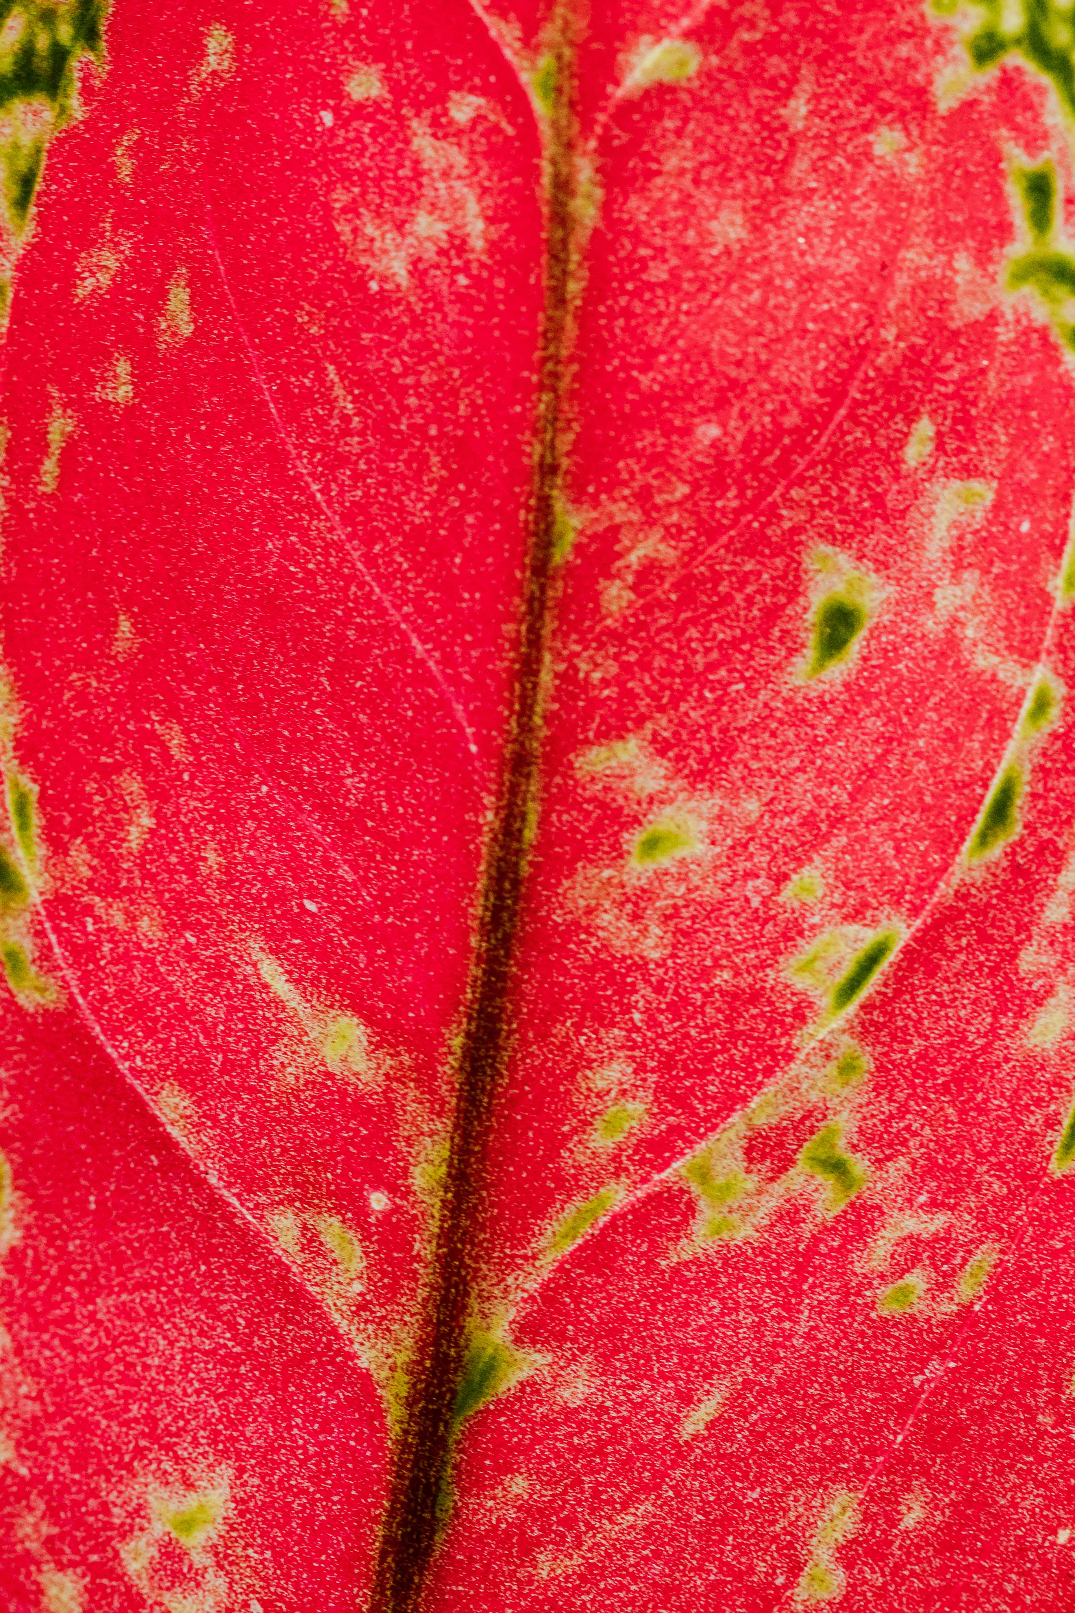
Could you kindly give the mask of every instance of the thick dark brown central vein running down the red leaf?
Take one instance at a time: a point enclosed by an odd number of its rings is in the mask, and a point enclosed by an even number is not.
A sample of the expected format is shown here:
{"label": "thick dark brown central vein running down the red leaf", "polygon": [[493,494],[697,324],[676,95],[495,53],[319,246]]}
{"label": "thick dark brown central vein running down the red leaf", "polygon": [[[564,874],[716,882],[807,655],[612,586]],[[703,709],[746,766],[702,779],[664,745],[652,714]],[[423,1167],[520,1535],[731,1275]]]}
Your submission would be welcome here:
{"label": "thick dark brown central vein running down the red leaf", "polygon": [[513,700],[496,815],[490,829],[480,921],[456,1069],[445,1179],[432,1242],[425,1310],[411,1389],[393,1453],[371,1613],[413,1613],[443,1523],[456,1398],[475,1289],[474,1223],[485,1144],[509,1036],[511,982],[537,798],[542,689],[556,556],[561,406],[575,253],[572,50],[561,13],[538,71],[545,137],[545,308],[540,336],[529,545],[521,594]]}

